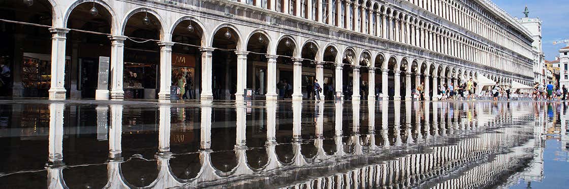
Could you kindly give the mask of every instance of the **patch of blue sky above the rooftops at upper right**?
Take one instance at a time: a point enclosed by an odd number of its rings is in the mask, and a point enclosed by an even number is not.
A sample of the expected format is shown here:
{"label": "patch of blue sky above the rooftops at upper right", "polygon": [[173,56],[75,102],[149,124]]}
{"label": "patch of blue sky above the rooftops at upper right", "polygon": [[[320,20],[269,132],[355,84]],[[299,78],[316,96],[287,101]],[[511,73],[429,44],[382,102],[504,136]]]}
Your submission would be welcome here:
{"label": "patch of blue sky above the rooftops at upper right", "polygon": [[530,18],[542,20],[542,48],[545,60],[555,60],[565,44],[553,41],[569,40],[569,0],[492,0],[510,15],[522,18],[527,6]]}

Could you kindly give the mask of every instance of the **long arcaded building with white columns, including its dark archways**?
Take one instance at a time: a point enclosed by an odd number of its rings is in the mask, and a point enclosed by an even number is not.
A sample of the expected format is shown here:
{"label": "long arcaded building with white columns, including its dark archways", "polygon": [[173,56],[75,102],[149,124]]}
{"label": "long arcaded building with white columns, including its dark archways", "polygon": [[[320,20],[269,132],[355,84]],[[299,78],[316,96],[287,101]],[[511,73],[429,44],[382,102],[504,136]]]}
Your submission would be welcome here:
{"label": "long arcaded building with white columns, including its dark archways", "polygon": [[489,0],[12,1],[12,96],[302,100],[318,79],[323,98],[409,100],[535,77],[533,35]]}

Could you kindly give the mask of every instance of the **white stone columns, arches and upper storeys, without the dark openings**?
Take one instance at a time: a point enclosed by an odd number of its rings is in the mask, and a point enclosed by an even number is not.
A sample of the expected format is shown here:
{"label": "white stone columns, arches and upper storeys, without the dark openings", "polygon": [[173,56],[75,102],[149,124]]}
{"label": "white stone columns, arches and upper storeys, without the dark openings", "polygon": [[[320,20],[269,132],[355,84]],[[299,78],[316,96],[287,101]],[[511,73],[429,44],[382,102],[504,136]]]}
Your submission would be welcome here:
{"label": "white stone columns, arches and upper storeys, without the dark openings", "polygon": [[[332,66],[336,92],[343,89],[343,72],[352,72],[354,91],[360,89],[360,69],[368,70],[369,89],[382,78],[383,97],[393,87],[394,99],[411,99],[411,77],[425,82],[426,94],[436,94],[442,83],[458,83],[478,74],[498,83],[512,80],[530,84],[533,36],[504,10],[488,0],[474,1],[111,1],[49,0],[52,6],[52,77],[50,99],[64,99],[65,33],[69,15],[81,3],[96,3],[111,16],[110,98],[123,96],[123,49],[125,27],[131,16],[146,12],[160,27],[160,99],[170,98],[172,32],[179,23],[191,20],[201,35],[201,99],[212,99],[212,52],[217,31],[231,30],[237,45],[237,100],[247,88],[248,41],[253,35],[267,39],[267,99],[277,98],[274,83],[278,44],[292,43],[294,72],[293,100],[302,99],[301,62],[303,48],[315,45],[311,62]],[[301,10],[301,11],[297,11]],[[102,11],[102,10],[101,10]],[[324,12],[324,14],[320,14]],[[333,61],[324,61],[333,49]],[[347,70],[344,66],[351,65]],[[410,69],[409,69],[410,68]],[[316,66],[315,78],[322,82],[323,66]],[[377,71],[376,71],[377,70]],[[377,75],[376,74],[381,74]],[[393,84],[388,84],[388,80]],[[437,81],[440,81],[437,82]],[[401,86],[405,83],[405,86]],[[323,83],[320,83],[322,86]],[[390,86],[391,85],[391,86]],[[393,86],[394,85],[394,86]],[[389,88],[390,89],[390,88]],[[371,90],[370,90],[371,91]],[[405,96],[402,96],[402,94]],[[370,98],[375,93],[369,93]],[[360,99],[360,93],[352,95]]]}

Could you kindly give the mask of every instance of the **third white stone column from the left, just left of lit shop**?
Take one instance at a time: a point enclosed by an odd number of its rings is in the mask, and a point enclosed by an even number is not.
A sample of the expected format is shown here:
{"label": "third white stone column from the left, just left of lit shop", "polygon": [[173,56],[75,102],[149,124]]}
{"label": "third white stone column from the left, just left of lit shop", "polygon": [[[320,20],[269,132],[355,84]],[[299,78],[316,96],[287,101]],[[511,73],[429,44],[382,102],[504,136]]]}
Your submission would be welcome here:
{"label": "third white stone column from the left, just left of lit shop", "polygon": [[[170,99],[172,85],[172,45],[170,41],[160,41],[160,91],[158,99]],[[181,87],[181,86],[180,86]]]}

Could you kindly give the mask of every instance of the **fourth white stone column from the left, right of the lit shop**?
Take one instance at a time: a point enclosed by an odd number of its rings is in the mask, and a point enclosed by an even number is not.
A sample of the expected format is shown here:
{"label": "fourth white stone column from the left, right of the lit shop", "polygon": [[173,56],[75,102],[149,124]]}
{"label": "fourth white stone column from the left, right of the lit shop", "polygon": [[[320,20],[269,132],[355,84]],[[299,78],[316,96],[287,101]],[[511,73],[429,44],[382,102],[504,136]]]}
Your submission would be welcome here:
{"label": "fourth white stone column from the left, right of the lit shop", "polygon": [[213,48],[202,47],[201,51],[201,94],[200,99],[212,100],[212,54]]}

